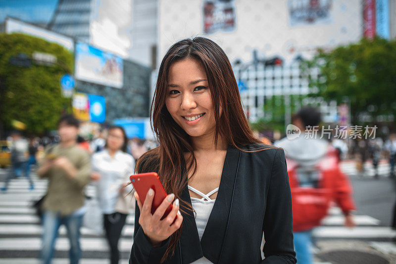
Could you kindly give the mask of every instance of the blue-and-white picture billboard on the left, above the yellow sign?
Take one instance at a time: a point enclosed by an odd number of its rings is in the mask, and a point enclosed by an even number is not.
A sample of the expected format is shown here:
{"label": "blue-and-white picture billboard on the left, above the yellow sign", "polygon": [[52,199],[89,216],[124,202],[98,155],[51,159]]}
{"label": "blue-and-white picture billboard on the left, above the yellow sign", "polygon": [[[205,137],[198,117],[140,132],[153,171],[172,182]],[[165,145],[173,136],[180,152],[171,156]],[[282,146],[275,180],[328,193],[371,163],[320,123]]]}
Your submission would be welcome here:
{"label": "blue-and-white picture billboard on the left, above the yellow sign", "polygon": [[124,65],[121,57],[85,43],[76,44],[76,79],[121,88]]}

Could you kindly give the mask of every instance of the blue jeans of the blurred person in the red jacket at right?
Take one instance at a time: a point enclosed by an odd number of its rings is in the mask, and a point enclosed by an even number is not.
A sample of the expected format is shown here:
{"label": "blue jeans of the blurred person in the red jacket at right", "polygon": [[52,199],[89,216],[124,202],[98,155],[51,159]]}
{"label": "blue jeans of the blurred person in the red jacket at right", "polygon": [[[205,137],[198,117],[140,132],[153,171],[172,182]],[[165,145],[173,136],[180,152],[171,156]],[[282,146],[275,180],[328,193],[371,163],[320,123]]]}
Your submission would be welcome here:
{"label": "blue jeans of the blurred person in the red jacket at right", "polygon": [[302,232],[293,232],[293,242],[297,263],[313,264],[311,252],[312,229]]}

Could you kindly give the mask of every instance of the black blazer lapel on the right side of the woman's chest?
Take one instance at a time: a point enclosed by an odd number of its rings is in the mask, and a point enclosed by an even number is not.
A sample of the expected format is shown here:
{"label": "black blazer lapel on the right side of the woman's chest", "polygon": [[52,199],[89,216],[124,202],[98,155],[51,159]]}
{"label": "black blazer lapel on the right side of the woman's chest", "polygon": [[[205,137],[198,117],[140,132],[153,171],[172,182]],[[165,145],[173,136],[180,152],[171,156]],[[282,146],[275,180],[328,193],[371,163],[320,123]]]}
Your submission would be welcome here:
{"label": "black blazer lapel on the right side of the woman's chest", "polygon": [[223,250],[240,157],[241,151],[228,145],[219,191],[200,241],[203,256],[215,264],[219,262]]}

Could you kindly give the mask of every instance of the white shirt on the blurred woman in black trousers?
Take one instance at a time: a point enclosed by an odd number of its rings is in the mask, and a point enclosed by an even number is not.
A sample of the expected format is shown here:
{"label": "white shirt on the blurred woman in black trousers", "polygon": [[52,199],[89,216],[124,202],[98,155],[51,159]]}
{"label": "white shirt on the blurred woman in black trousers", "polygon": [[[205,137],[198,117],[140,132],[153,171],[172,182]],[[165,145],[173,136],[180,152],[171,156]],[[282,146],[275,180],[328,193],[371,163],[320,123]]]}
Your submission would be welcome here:
{"label": "white shirt on the blurred woman in black trousers", "polygon": [[[119,195],[119,188],[124,183],[129,183],[129,176],[135,169],[135,159],[131,155],[118,151],[111,158],[107,150],[95,153],[92,156],[92,171],[100,174],[100,179],[95,182],[97,196],[102,213],[115,212],[115,204]],[[132,190],[132,184],[126,187]]]}

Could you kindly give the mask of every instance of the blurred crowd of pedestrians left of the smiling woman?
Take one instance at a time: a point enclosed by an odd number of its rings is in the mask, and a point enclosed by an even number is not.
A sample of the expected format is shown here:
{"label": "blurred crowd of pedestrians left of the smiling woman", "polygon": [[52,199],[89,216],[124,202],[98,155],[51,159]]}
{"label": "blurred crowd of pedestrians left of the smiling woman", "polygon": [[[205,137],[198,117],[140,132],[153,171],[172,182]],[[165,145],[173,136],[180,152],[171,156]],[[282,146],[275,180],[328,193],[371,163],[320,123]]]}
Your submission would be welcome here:
{"label": "blurred crowd of pedestrians left of the smiling woman", "polygon": [[[134,174],[137,159],[154,141],[128,139],[121,126],[108,126],[88,141],[79,134],[79,121],[65,115],[58,121],[56,136],[25,138],[13,131],[2,142],[2,165],[10,165],[1,191],[5,193],[15,177],[26,176],[34,190],[32,168],[40,178],[48,179],[46,194],[34,202],[42,221],[43,236],[40,258],[50,263],[58,228],[65,225],[70,242],[70,262],[78,263],[82,251],[80,228],[104,230],[110,248],[110,263],[119,261],[118,241],[135,201],[129,176]],[[87,196],[85,187],[95,187],[95,197]]]}

